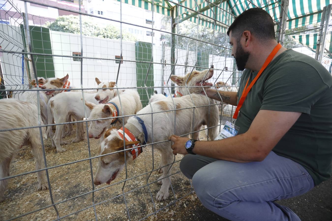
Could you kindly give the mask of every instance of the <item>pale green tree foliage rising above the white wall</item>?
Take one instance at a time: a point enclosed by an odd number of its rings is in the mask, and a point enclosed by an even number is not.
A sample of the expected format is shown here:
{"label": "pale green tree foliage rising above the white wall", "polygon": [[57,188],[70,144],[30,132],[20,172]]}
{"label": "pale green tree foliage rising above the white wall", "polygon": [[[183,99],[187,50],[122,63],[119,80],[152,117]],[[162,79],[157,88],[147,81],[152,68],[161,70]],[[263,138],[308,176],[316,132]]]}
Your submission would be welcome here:
{"label": "pale green tree foliage rising above the white wall", "polygon": [[[61,31],[73,34],[80,34],[79,16],[64,15],[59,16],[54,22],[47,22],[45,27],[53,31]],[[93,37],[102,37],[110,39],[120,39],[120,29],[107,25],[105,28],[100,27],[97,22],[91,21],[91,18],[82,16],[82,34]],[[136,37],[130,33],[122,32],[122,39],[125,41],[136,41]]]}

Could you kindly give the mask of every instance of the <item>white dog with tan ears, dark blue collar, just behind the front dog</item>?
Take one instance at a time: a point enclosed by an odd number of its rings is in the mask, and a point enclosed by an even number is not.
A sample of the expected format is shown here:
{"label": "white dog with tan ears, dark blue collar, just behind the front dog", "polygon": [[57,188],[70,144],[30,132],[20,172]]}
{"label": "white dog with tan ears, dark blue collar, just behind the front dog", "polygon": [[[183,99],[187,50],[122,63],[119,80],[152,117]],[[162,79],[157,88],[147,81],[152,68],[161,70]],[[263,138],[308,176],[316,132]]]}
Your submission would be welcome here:
{"label": "white dog with tan ears, dark blue collar, just behind the front dog", "polygon": [[[121,99],[121,104],[119,98]],[[136,114],[142,109],[142,103],[139,99],[139,94],[135,90],[126,90],[120,95],[108,101],[106,104],[96,105],[86,101],[85,105],[91,110],[89,120],[109,118],[112,116],[123,116],[122,110],[124,115],[132,115]],[[124,124],[126,124],[128,118],[129,117],[113,119],[109,118],[104,120],[90,121],[89,138],[100,138],[100,142],[102,142],[104,139],[103,134],[107,129],[110,128],[111,124],[113,124],[117,129],[120,129],[123,125],[122,120],[124,120]]]}

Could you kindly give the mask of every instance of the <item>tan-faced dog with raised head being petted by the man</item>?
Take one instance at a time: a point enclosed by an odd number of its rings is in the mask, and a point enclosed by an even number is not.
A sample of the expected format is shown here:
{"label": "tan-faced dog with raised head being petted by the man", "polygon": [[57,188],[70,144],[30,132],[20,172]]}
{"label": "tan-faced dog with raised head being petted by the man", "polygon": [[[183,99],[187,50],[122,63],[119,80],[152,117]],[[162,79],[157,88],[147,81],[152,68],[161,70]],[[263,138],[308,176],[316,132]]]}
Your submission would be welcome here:
{"label": "tan-faced dog with raised head being petted by the man", "polygon": [[[211,66],[213,68],[213,65]],[[206,69],[204,71],[197,71],[193,70],[192,72],[187,73],[185,76],[176,76],[176,75],[171,75],[171,80],[176,83],[179,87],[176,87],[176,91],[174,94],[174,97],[181,97],[184,95],[188,95],[189,93],[191,94],[200,94],[203,91],[203,87],[205,86],[204,89],[207,90],[210,87],[207,86],[213,86],[212,83],[206,82],[208,79],[210,79],[213,76],[213,69]],[[188,79],[188,80],[187,80]],[[186,87],[186,82],[187,86]],[[218,135],[218,128],[214,127],[218,125],[218,119],[219,117],[214,117],[214,116],[219,116],[219,111],[217,105],[215,104],[215,100],[208,98],[210,106],[210,118],[207,121],[204,121],[203,125],[207,125],[208,129],[208,137],[210,139],[214,139]],[[201,126],[203,126],[201,125]],[[195,128],[195,131],[200,130],[201,126],[198,128]],[[194,139],[199,140],[199,133],[194,134]]]}

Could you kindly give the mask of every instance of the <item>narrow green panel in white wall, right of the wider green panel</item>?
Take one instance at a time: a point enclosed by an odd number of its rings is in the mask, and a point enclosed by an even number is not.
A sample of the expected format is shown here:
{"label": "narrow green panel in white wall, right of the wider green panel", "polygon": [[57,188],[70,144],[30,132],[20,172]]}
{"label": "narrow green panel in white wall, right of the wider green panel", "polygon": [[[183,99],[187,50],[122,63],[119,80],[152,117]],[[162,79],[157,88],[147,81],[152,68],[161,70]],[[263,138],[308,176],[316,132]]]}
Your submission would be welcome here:
{"label": "narrow green panel in white wall, right of the wider green panel", "polygon": [[[149,74],[147,76],[146,86],[151,87],[148,88],[148,95],[146,94],[145,88],[137,88],[139,93],[141,102],[143,107],[145,107],[149,103],[148,96],[153,94],[153,64],[149,69],[150,63],[142,63],[139,61],[151,62],[152,58],[152,44],[148,42],[136,41],[135,42],[135,57],[136,57],[136,79],[137,79],[137,87],[144,87],[144,81],[146,77],[146,73],[149,70]],[[152,60],[153,62],[153,60]]]}

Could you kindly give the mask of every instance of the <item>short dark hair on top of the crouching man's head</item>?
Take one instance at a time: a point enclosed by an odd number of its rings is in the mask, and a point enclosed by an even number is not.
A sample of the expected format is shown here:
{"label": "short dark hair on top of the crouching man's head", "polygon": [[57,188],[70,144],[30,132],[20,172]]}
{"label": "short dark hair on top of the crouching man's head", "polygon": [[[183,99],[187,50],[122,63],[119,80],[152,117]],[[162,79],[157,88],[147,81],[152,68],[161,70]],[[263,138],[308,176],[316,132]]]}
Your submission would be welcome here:
{"label": "short dark hair on top of the crouching man's head", "polygon": [[261,8],[251,8],[242,12],[229,26],[227,35],[232,31],[232,36],[239,39],[245,30],[262,40],[276,39],[273,19]]}

